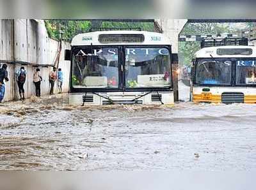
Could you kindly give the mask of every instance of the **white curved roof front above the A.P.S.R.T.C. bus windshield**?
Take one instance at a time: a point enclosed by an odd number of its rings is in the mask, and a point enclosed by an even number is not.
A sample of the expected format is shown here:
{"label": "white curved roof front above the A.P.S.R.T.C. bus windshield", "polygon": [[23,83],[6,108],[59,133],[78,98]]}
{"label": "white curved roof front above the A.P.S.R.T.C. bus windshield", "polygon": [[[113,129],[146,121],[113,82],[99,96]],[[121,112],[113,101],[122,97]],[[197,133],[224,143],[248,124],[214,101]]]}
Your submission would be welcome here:
{"label": "white curved roof front above the A.P.S.R.T.C. bus windshield", "polygon": [[[135,35],[143,36],[142,41],[138,42],[100,42],[100,35],[106,37],[111,35]],[[170,40],[167,36],[162,33],[153,33],[147,31],[97,31],[92,33],[83,33],[76,35],[72,42],[72,46],[83,46],[83,45],[170,45]]]}

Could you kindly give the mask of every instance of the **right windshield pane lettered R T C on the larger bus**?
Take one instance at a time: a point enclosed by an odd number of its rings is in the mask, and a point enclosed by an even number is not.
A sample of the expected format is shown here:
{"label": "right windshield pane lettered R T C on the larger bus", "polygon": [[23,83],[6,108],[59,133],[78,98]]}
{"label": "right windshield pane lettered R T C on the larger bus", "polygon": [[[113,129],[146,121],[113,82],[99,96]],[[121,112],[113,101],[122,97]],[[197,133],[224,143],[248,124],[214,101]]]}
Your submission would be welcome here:
{"label": "right windshield pane lettered R T C on the larger bus", "polygon": [[170,66],[170,52],[167,48],[126,48],[126,87],[170,87]]}

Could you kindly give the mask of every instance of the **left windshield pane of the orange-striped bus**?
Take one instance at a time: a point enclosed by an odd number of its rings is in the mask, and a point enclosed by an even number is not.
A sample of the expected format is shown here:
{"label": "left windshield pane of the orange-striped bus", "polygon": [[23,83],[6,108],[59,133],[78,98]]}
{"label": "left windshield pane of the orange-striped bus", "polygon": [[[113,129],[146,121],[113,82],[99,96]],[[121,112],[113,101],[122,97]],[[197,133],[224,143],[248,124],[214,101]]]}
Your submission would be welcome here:
{"label": "left windshield pane of the orange-striped bus", "polygon": [[200,60],[196,64],[196,84],[230,84],[231,66],[229,60]]}

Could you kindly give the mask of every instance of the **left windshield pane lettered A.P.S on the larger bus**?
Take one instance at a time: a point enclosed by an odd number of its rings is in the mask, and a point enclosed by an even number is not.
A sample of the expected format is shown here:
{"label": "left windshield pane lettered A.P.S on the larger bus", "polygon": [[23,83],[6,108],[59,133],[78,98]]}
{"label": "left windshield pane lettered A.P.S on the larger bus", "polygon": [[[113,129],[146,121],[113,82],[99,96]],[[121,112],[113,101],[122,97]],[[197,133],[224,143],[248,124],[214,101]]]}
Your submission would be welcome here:
{"label": "left windshield pane lettered A.P.S on the larger bus", "polygon": [[72,56],[74,88],[118,88],[118,48],[77,48]]}

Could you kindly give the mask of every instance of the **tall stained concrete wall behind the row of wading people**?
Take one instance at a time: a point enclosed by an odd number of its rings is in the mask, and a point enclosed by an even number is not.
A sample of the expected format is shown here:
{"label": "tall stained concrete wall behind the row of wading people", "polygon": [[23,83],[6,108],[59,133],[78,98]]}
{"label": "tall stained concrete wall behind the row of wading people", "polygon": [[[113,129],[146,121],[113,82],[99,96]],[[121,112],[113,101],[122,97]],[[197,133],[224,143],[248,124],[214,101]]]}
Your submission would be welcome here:
{"label": "tall stained concrete wall behind the row of wading people", "polygon": [[[28,76],[24,85],[26,98],[35,94],[33,73],[38,67],[43,77],[42,95],[49,93],[48,75],[54,64],[58,52],[59,42],[52,40],[47,35],[44,20],[0,20],[0,60],[29,62],[25,67]],[[64,50],[69,49],[70,44],[62,41],[62,51],[59,68],[63,70],[63,92],[68,92],[70,62],[64,61]],[[3,64],[3,63],[2,63]],[[15,71],[21,64],[8,64],[9,82],[6,82],[6,96],[4,101],[19,98]],[[55,88],[57,92],[57,87]]]}

